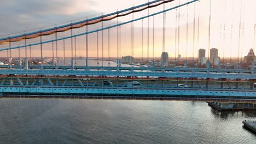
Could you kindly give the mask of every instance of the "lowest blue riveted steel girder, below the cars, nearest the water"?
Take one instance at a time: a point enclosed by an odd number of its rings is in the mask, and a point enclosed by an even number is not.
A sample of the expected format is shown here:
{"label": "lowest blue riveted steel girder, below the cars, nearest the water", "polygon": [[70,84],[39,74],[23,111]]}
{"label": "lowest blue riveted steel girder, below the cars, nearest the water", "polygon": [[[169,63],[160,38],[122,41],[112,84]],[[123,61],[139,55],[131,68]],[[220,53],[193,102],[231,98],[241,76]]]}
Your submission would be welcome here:
{"label": "lowest blue riveted steel girder, below the cars, nearest the water", "polygon": [[188,96],[212,96],[212,97],[254,97],[255,91],[235,91],[235,90],[211,90],[211,89],[150,89],[150,88],[89,88],[89,87],[0,87],[1,93],[27,93],[27,94],[97,94],[97,95],[188,95]]}

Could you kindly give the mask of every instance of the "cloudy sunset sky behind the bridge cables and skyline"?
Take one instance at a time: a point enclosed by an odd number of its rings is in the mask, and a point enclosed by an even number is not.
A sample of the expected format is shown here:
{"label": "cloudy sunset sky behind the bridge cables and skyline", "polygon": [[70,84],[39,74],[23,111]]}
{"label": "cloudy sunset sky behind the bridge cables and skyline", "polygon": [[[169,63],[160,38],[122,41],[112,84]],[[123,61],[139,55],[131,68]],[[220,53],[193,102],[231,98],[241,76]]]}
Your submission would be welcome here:
{"label": "cloudy sunset sky behind the bridge cables and skyline", "polygon": [[[174,7],[178,3],[185,3],[189,0],[176,0],[165,4],[165,9]],[[39,29],[60,26],[65,23],[86,19],[85,17],[95,17],[103,14],[112,13],[118,9],[126,9],[132,5],[147,3],[147,0],[130,0],[130,1],[100,1],[100,0],[9,0],[1,2],[0,5],[0,38],[9,37],[10,35],[21,34],[26,32],[38,31]],[[242,9],[241,9],[242,8]],[[149,13],[156,13],[163,9],[160,5],[157,8],[149,10]],[[193,4],[185,5],[182,8],[174,9],[166,13],[166,47],[165,51],[171,57],[196,57],[198,49],[208,49],[216,47],[219,49],[220,57],[243,57],[247,55],[249,49],[255,49],[254,46],[254,24],[256,1],[254,0],[212,0],[211,3],[211,31],[210,46],[209,38],[209,15],[210,0],[200,0]],[[134,14],[135,18],[146,16],[147,10]],[[180,15],[179,25],[176,14]],[[188,17],[187,17],[188,16]],[[241,22],[240,22],[241,16]],[[178,16],[177,16],[178,17]],[[199,17],[199,29],[198,29]],[[120,17],[119,22],[125,22],[132,19],[132,15]],[[163,31],[163,14],[155,16],[155,35],[154,35],[154,56],[160,57],[162,52],[162,31]],[[194,28],[195,19],[195,28]],[[117,20],[104,22],[104,26],[113,25]],[[188,23],[188,25],[187,25]],[[147,57],[149,47],[149,57],[153,56],[153,17],[137,21],[134,25],[134,56]],[[142,25],[143,25],[143,43],[142,43]],[[178,26],[180,28],[178,38]],[[188,26],[188,33],[187,33]],[[95,26],[89,26],[89,31],[101,27],[101,23]],[[121,26],[121,52],[119,55],[131,55],[131,24]],[[199,31],[198,31],[199,30]],[[83,33],[85,27],[73,29],[73,34]],[[195,31],[195,32],[194,32]],[[199,32],[199,33],[197,33]],[[147,36],[149,33],[149,42]],[[240,38],[239,38],[240,33]],[[58,33],[58,37],[70,35],[71,32]],[[102,32],[89,34],[89,56],[103,57],[108,56],[108,31],[103,31],[103,52],[102,50]],[[187,38],[188,35],[188,38]],[[53,39],[54,35],[43,36],[43,40]],[[197,40],[198,38],[198,40]],[[179,40],[178,40],[179,39]],[[76,38],[75,45],[77,56],[85,56],[85,36]],[[28,40],[28,43],[38,42],[39,38]],[[73,39],[74,41],[74,39]],[[179,41],[179,44],[178,44]],[[58,41],[58,55],[63,56],[63,41]],[[149,44],[149,45],[148,45]],[[11,46],[24,45],[24,41],[11,43]],[[110,29],[110,57],[117,56],[117,28]],[[54,44],[55,46],[55,44]],[[9,47],[9,44],[0,45],[0,49]],[[73,45],[74,47],[74,45]],[[179,49],[178,49],[179,47]],[[56,47],[54,47],[55,49]],[[39,46],[33,46],[33,56],[39,55]],[[43,45],[43,56],[51,56],[52,44]],[[65,41],[66,56],[71,56],[71,39]],[[22,56],[25,50],[21,49]],[[54,52],[56,56],[56,52]],[[74,55],[74,52],[73,52]],[[6,56],[6,52],[1,52],[0,56]],[[18,56],[18,50],[13,50],[13,56]]]}

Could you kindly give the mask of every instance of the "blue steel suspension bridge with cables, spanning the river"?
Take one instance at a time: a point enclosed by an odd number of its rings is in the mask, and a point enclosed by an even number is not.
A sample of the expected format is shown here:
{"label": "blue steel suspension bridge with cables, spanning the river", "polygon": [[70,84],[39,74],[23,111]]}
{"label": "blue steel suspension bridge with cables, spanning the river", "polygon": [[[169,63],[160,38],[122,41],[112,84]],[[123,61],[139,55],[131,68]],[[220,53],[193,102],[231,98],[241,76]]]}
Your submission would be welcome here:
{"label": "blue steel suspension bridge with cables, spanning the river", "polygon": [[[171,3],[170,7],[167,4]],[[154,56],[154,41],[162,40],[162,52],[165,52],[166,37],[166,17],[167,13],[176,10],[176,24],[180,17],[177,11],[182,7],[194,7],[199,4],[198,0],[186,1],[177,3],[177,1],[152,1],[141,5],[133,6],[114,13],[92,17],[90,19],[71,22],[66,25],[55,26],[48,29],[40,29],[39,31],[13,35],[10,37],[0,38],[1,53],[6,53],[4,59],[7,64],[0,65],[0,93],[1,97],[26,97],[26,98],[101,98],[101,99],[147,99],[147,100],[202,100],[202,101],[234,101],[256,103],[256,91],[254,82],[256,82],[254,63],[251,63],[249,69],[241,69],[240,67],[228,68],[212,68],[207,62],[206,68],[188,67],[188,59],[186,57],[184,67],[166,67],[164,61],[160,62],[159,66],[155,66],[156,58]],[[150,9],[161,7],[162,10],[150,13]],[[209,21],[209,44],[210,49],[210,30],[211,30],[211,3],[210,21]],[[142,17],[134,18],[133,14],[147,11],[148,14]],[[132,15],[132,16],[131,16]],[[162,37],[155,37],[155,16],[162,16]],[[178,15],[178,17],[177,17]],[[193,14],[188,15],[194,15]],[[120,22],[119,17],[130,17],[128,21]],[[131,18],[132,17],[132,18]],[[117,20],[114,24],[104,25],[104,22]],[[141,67],[134,65],[121,64],[121,27],[130,27],[130,56],[134,56],[136,35],[134,32],[133,23],[136,21],[147,21],[147,34],[143,33],[142,25],[142,57],[139,59]],[[150,21],[149,21],[150,20]],[[153,23],[153,56],[149,56],[149,23]],[[195,38],[195,22],[198,22],[199,17],[195,20],[194,17],[194,33]],[[240,22],[241,23],[241,22]],[[98,25],[101,25],[98,27]],[[96,28],[90,28],[96,26]],[[73,29],[85,28],[80,33],[74,33]],[[179,31],[177,25],[176,30]],[[179,34],[176,31],[176,46],[179,45]],[[199,30],[198,30],[199,31]],[[61,35],[63,32],[68,32],[68,35]],[[103,32],[108,35],[103,43]],[[99,33],[101,34],[101,43],[99,43]],[[116,49],[117,57],[114,58],[115,65],[103,65],[100,59],[110,59],[109,39],[110,34],[116,34]],[[89,65],[92,61],[90,57],[90,34],[97,34],[97,58],[93,61],[97,63]],[[143,38],[144,34],[144,38]],[[197,33],[196,37],[199,37]],[[85,41],[83,58],[78,58],[77,43],[78,38],[83,37]],[[92,36],[91,36],[92,37]],[[32,39],[32,40],[31,40]],[[34,39],[34,40],[33,40]],[[127,39],[127,38],[126,38]],[[147,45],[144,45],[143,57],[143,40],[146,39]],[[188,26],[187,26],[188,39]],[[65,42],[66,40],[66,42]],[[71,46],[67,47],[67,41],[71,41]],[[108,41],[108,42],[106,42]],[[188,41],[188,40],[187,40]],[[61,43],[61,44],[60,44]],[[65,50],[66,43],[66,50]],[[99,46],[101,44],[101,46]],[[47,46],[45,46],[47,45]],[[33,56],[36,47],[40,57]],[[50,49],[49,49],[50,47]],[[101,48],[101,50],[99,49]],[[146,47],[146,48],[145,48]],[[179,46],[175,47],[175,61]],[[188,44],[187,44],[188,47]],[[207,46],[206,46],[207,47]],[[44,51],[46,49],[52,52],[52,56],[46,57]],[[71,49],[71,56],[67,58],[67,49]],[[127,48],[126,48],[127,49]],[[194,50],[194,48],[193,48]],[[146,52],[145,52],[146,51]],[[174,50],[173,50],[174,51]],[[66,54],[65,54],[66,52]],[[188,52],[188,51],[187,51]],[[101,53],[101,56],[99,56]],[[238,55],[240,55],[238,53]],[[16,63],[14,63],[16,59]],[[51,63],[44,64],[46,59],[50,59]],[[70,63],[65,61],[70,59]],[[84,61],[84,65],[78,65],[77,61]],[[196,58],[195,58],[196,59]],[[193,62],[194,51],[193,51]],[[32,63],[32,61],[38,63]],[[209,56],[208,56],[209,60]],[[101,65],[102,62],[102,65]],[[142,67],[143,64],[150,62],[147,67]],[[240,63],[238,57],[237,65]]]}

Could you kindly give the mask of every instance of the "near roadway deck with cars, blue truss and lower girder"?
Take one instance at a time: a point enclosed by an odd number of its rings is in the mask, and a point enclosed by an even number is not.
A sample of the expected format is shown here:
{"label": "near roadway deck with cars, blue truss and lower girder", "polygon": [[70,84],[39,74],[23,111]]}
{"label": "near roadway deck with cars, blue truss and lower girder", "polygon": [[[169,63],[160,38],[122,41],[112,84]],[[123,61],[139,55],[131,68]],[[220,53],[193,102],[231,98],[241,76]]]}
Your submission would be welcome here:
{"label": "near roadway deck with cars, blue truss and lower girder", "polygon": [[[132,81],[137,81],[132,84]],[[183,84],[179,87],[179,84]],[[186,87],[187,86],[187,87]],[[0,77],[2,95],[119,95],[141,97],[256,99],[254,82],[220,80],[125,79],[124,77]]]}

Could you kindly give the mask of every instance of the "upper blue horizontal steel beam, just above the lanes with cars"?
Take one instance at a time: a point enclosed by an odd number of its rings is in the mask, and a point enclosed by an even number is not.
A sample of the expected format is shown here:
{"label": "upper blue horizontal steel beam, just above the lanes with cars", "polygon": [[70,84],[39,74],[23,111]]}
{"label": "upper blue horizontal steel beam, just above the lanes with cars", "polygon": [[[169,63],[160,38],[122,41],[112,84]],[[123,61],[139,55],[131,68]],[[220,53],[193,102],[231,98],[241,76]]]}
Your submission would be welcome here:
{"label": "upper blue horizontal steel beam, just above the lanes with cars", "polygon": [[91,70],[27,70],[0,69],[0,74],[16,75],[91,75],[91,76],[158,76],[158,77],[197,77],[210,79],[256,79],[255,74],[225,74],[225,73],[189,73],[161,71],[91,71]]}

